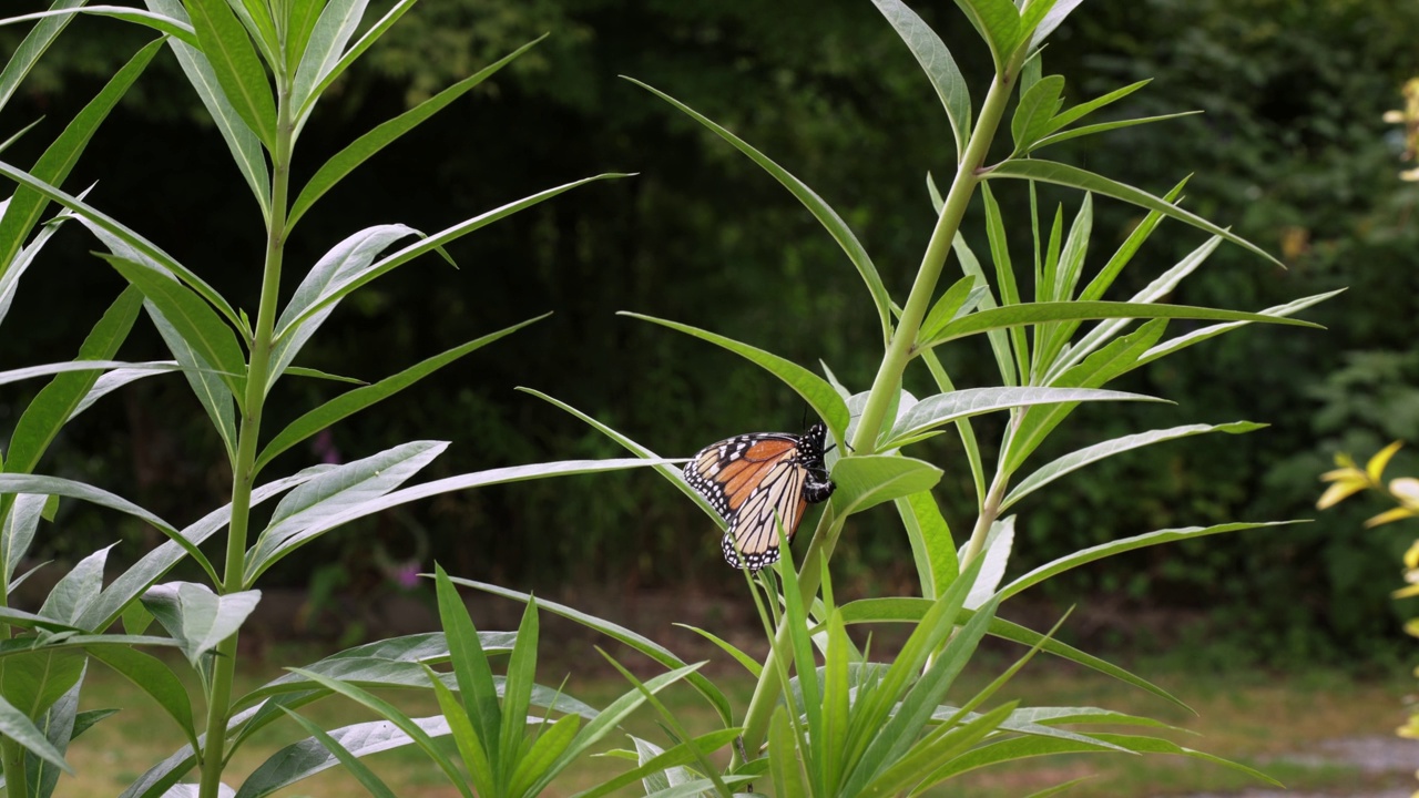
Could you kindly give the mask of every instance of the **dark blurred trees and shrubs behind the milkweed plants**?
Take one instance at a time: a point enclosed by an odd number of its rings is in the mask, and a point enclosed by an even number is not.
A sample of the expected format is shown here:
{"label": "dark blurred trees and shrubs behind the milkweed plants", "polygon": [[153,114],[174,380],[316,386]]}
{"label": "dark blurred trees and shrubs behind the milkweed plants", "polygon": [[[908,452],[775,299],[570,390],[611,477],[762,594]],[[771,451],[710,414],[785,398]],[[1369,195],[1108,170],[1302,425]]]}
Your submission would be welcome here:
{"label": "dark blurred trees and shrubs behind the milkweed plants", "polygon": [[[26,0],[10,3],[41,9]],[[389,3],[376,0],[382,11]],[[954,3],[912,7],[946,41],[979,102],[989,55]],[[372,16],[370,18],[377,18]],[[799,430],[803,403],[762,371],[707,344],[616,317],[630,310],[704,327],[805,366],[832,366],[866,389],[880,344],[871,302],[847,258],[776,182],[643,89],[670,92],[792,170],[853,226],[898,301],[934,222],[928,172],[949,182],[945,115],[907,48],[863,1],[438,0],[416,6],[336,84],[298,145],[297,185],[360,132],[517,45],[528,55],[390,146],[302,222],[287,294],[325,250],[358,229],[400,222],[434,231],[536,190],[599,172],[599,182],[536,206],[406,266],[345,301],[299,365],[376,381],[512,322],[555,315],[457,362],[414,390],[282,456],[270,477],[410,439],[451,440],[427,479],[497,466],[613,457],[576,419],[515,392],[548,392],[664,456],[749,430]],[[0,28],[13,51],[23,30]],[[4,159],[38,149],[150,38],[146,28],[79,18],[21,85],[0,136],[44,116]],[[1220,247],[1172,300],[1260,310],[1348,287],[1303,314],[1327,331],[1247,328],[1117,385],[1176,406],[1080,409],[1034,464],[1098,440],[1182,423],[1271,426],[1203,436],[1105,460],[1019,507],[1013,572],[1101,541],[1229,520],[1314,523],[1213,537],[1070,572],[1029,596],[1081,615],[1070,635],[1132,649],[1208,640],[1261,663],[1388,663],[1405,645],[1405,608],[1389,601],[1405,525],[1364,531],[1382,505],[1315,513],[1317,476],[1335,452],[1368,456],[1389,440],[1419,446],[1419,186],[1403,183],[1402,131],[1385,124],[1419,74],[1412,0],[1091,0],[1044,53],[1066,99],[1137,80],[1152,84],[1110,118],[1205,114],[1067,142],[1046,158],[1165,193],[1188,173],[1186,206],[1276,253],[1287,270]],[[1005,155],[1000,152],[999,155]],[[99,131],[65,185],[254,311],[261,224],[220,136],[170,54],[160,55]],[[1012,251],[1029,253],[1023,186],[998,189]],[[1044,207],[1080,195],[1043,192]],[[979,202],[976,203],[979,206]],[[1093,271],[1141,219],[1095,204]],[[964,227],[982,257],[979,207]],[[1203,236],[1165,223],[1111,298],[1125,298]],[[20,287],[0,368],[71,359],[122,288],[68,226]],[[949,267],[949,268],[954,268]],[[1185,331],[1175,324],[1169,334]],[[165,356],[140,322],[126,359]],[[998,381],[983,339],[942,349],[959,386]],[[924,371],[908,385],[931,390]],[[43,383],[0,392],[0,436]],[[287,379],[270,433],[341,392]],[[1000,416],[981,419],[982,440]],[[973,494],[958,444],[921,456],[946,467],[937,494],[954,530],[969,530]],[[91,480],[186,524],[226,501],[217,436],[180,378],[140,381],[65,427],[40,473]],[[1419,471],[1402,453],[1392,474]],[[41,532],[44,534],[44,532]],[[156,532],[65,503],[37,555],[58,568],[121,541],[136,559]],[[551,598],[630,606],[680,591],[714,608],[742,589],[722,565],[714,525],[651,473],[519,483],[440,497],[326,535],[267,575],[297,591],[304,636],[382,633],[375,613],[417,605],[413,572],[450,572]],[[912,591],[911,554],[890,508],[854,521],[834,559],[840,592]],[[742,598],[742,596],[738,596]],[[1010,615],[1006,612],[1006,615]],[[1232,660],[1229,659],[1229,662]]]}

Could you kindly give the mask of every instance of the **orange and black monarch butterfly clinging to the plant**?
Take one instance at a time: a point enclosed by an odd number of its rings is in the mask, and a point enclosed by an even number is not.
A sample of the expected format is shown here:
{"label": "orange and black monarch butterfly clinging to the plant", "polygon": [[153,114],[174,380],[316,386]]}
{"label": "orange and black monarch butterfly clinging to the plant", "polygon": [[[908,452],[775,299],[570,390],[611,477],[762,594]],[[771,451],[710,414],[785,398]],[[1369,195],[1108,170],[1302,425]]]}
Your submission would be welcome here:
{"label": "orange and black monarch butterfly clinging to the plant", "polygon": [[705,446],[685,464],[690,487],[729,523],[724,558],[731,567],[758,571],[776,562],[778,524],[792,542],[807,504],[833,496],[836,486],[823,466],[826,440],[822,423],[803,434],[738,434]]}

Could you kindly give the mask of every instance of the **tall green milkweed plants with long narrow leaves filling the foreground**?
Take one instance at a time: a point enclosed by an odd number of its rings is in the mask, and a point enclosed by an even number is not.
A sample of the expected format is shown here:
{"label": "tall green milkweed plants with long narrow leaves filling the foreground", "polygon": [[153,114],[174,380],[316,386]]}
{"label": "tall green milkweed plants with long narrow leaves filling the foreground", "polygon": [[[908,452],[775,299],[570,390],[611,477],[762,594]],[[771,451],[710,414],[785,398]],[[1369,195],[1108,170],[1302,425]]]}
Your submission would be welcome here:
{"label": "tall green milkweed plants with long narrow leaves filling the foreground", "polygon": [[[16,284],[40,248],[61,227],[79,227],[95,237],[102,257],[128,283],[84,341],[77,358],[0,373],[0,382],[50,378],[24,409],[4,450],[0,473],[0,767],[9,795],[45,798],[62,774],[71,741],[106,711],[77,711],[89,666],[109,667],[131,679],[187,744],[152,764],[123,798],[199,795],[241,798],[268,795],[322,770],[342,765],[369,792],[390,788],[362,760],[366,754],[416,745],[460,795],[532,797],[592,750],[631,711],[654,710],[667,730],[660,741],[631,738],[631,748],[613,750],[626,760],[622,774],[580,792],[595,798],[637,782],[658,797],[717,794],[728,798],[753,787],[775,795],[915,795],[959,774],[1025,757],[1059,753],[1168,753],[1219,761],[1149,734],[1094,731],[1097,724],[1161,724],[1094,707],[1039,707],[1009,699],[1009,677],[1036,655],[1064,657],[1121,679],[1161,700],[1176,699],[1118,666],[1066,646],[1047,632],[1005,621],[998,609],[1012,596],[1070,568],[1142,547],[1235,530],[1263,527],[1235,523],[1144,532],[1074,552],[1027,574],[1006,579],[1017,524],[1016,503],[1071,471],[1104,457],[1179,437],[1244,433],[1261,425],[1185,425],[1105,440],[1049,463],[1032,454],[1081,402],[1148,402],[1149,396],[1110,390],[1111,381],[1159,358],[1253,322],[1305,325],[1290,318],[1327,295],[1297,300],[1260,312],[1164,304],[1164,298],[1223,241],[1271,260],[1256,246],[1178,204],[1179,183],[1165,196],[1114,182],[1091,172],[1042,159],[1047,146],[1114,128],[1166,116],[1081,124],[1090,114],[1124,99],[1142,82],[1063,108],[1064,78],[1047,75],[1043,45],[1081,0],[958,0],[961,13],[989,48],[993,78],[975,102],[955,60],[941,38],[898,0],[873,0],[921,64],[935,88],[949,126],[955,172],[944,192],[928,176],[922,202],[937,210],[911,287],[897,293],[883,281],[871,257],[843,219],[799,177],[768,155],[736,138],[690,105],[631,80],[664,99],[758,163],[793,193],[843,248],[861,275],[866,300],[880,327],[883,356],[866,389],[836,379],[827,364],[822,376],[799,364],[715,331],[675,321],[627,314],[683,332],[741,355],[796,390],[827,427],[826,477],[836,490],[793,551],[751,579],[749,596],[759,608],[769,653],[756,660],[712,630],[700,630],[739,663],[756,686],[746,707],[736,707],[724,689],[651,638],[592,618],[572,606],[536,599],[502,586],[434,574],[443,632],[379,640],[299,667],[248,693],[236,694],[234,674],[244,656],[237,642],[243,622],[261,598],[264,572],[275,562],[348,521],[444,491],[559,474],[651,467],[721,525],[724,517],[687,483],[681,459],[660,457],[596,419],[534,395],[582,417],[633,457],[536,463],[477,471],[406,487],[437,457],[446,442],[417,440],[343,464],[314,464],[291,474],[271,474],[277,456],[342,419],[403,390],[420,378],[478,348],[509,335],[507,329],[454,346],[370,385],[308,409],[282,429],[263,426],[264,409],[282,379],[335,381],[295,365],[301,348],[336,311],[342,300],[419,256],[447,257],[443,244],[587,183],[624,177],[596,175],[549,187],[431,234],[392,222],[352,231],[314,264],[287,263],[285,246],[299,220],[370,155],[494,75],[528,48],[453,84],[410,111],[356,136],[314,172],[292,183],[297,142],[307,122],[319,124],[319,99],[366,50],[409,11],[413,0],[397,0],[377,18],[366,18],[365,0],[145,0],[142,7],[87,6],[54,0],[48,11],[4,20],[28,24],[28,34],[0,72],[0,104],[61,35],[77,13],[146,26],[158,37],[140,48],[54,139],[28,169],[0,160],[0,175],[14,183],[0,216],[0,319]],[[75,159],[118,99],[156,57],[173,57],[226,142],[233,162],[260,210],[265,241],[260,268],[260,302],[248,310],[228,302],[203,277],[179,263],[138,230],[102,209],[116,203],[102,186],[70,193],[65,182]],[[1009,129],[1006,136],[1005,129]],[[21,131],[37,136],[38,131]],[[21,133],[16,133],[17,136]],[[13,141],[13,139],[11,139]],[[1005,141],[1006,143],[998,143]],[[3,146],[3,145],[0,145]],[[992,159],[992,152],[1009,151]],[[3,152],[0,152],[3,156]],[[1022,183],[1030,192],[1029,230],[1033,251],[1012,257],[1007,223],[992,186]],[[1039,183],[1081,192],[1073,219],[1039,207]],[[978,190],[979,189],[979,190]],[[583,190],[595,190],[586,187]],[[1086,277],[1093,223],[1093,197],[1122,200],[1148,212],[1122,246]],[[985,210],[989,251],[978,254],[959,234],[966,207]],[[45,219],[54,209],[55,214]],[[1212,237],[1142,291],[1107,300],[1110,287],[1134,261],[1156,226],[1174,219]],[[68,233],[65,233],[68,234]],[[986,256],[986,257],[982,257]],[[959,277],[945,278],[948,264]],[[304,278],[281,297],[282,270]],[[284,301],[282,301],[284,300]],[[139,317],[156,327],[167,352],[146,362],[115,361]],[[1166,337],[1169,319],[1191,319],[1188,332]],[[1199,324],[1200,322],[1200,324]],[[958,389],[938,348],[985,334],[999,385]],[[911,369],[911,376],[908,376]],[[223,443],[231,473],[230,503],[177,528],[156,514],[98,486],[35,473],[62,425],[92,402],[148,378],[175,379],[193,389]],[[917,398],[904,381],[929,381],[932,393]],[[858,386],[863,388],[863,386]],[[998,447],[982,446],[973,416],[1005,413]],[[932,494],[944,467],[918,457],[918,443],[954,432],[976,490],[975,521],[952,531]],[[988,453],[996,452],[989,456]],[[126,571],[105,581],[108,548],[81,559],[35,611],[10,606],[9,595],[27,576],[16,567],[33,545],[41,520],[53,515],[60,497],[126,513],[167,540],[145,552]],[[251,510],[275,500],[270,521],[253,524]],[[920,596],[861,599],[839,603],[832,589],[832,558],[847,521],[870,507],[891,504],[901,518],[915,558]],[[795,517],[795,521],[797,518]],[[776,517],[782,524],[783,518]],[[260,527],[260,528],[257,528]],[[806,527],[805,527],[806,528]],[[783,542],[789,532],[778,528]],[[221,557],[209,557],[201,548]],[[190,559],[200,582],[167,581],[169,571]],[[732,574],[727,571],[727,575]],[[514,632],[474,628],[457,586],[502,595],[526,603]],[[563,615],[626,643],[664,666],[641,680],[622,667],[629,689],[604,709],[593,709],[559,689],[536,683],[539,613]],[[155,623],[156,622],[156,623]],[[907,643],[891,657],[873,657],[870,645],[849,633],[863,623],[901,623]],[[122,625],[119,632],[118,625]],[[1020,660],[986,689],[954,692],[955,679],[985,636],[1020,643]],[[175,657],[153,656],[173,649]],[[494,674],[494,662],[505,667]],[[201,703],[194,706],[170,663],[196,673]],[[714,709],[717,727],[690,730],[657,697],[685,683]],[[440,714],[409,717],[382,692],[431,692]],[[301,714],[315,700],[339,696],[380,720],[322,728]],[[238,784],[228,782],[234,751],[257,731],[275,726],[294,738]],[[451,740],[448,740],[451,738]],[[728,764],[727,764],[728,763]],[[1229,764],[1229,763],[1223,763]],[[1267,777],[1242,765],[1229,764]],[[1060,785],[1063,788],[1066,785]],[[1059,789],[1051,788],[1050,792]]]}

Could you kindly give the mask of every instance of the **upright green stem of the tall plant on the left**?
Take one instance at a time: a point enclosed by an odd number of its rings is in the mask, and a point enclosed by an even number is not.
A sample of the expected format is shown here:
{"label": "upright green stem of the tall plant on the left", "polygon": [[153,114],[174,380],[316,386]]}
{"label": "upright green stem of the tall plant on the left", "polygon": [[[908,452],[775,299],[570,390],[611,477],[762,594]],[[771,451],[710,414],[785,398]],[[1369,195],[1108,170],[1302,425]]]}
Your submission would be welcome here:
{"label": "upright green stem of the tall plant on the left", "polygon": [[[237,459],[231,467],[231,525],[227,530],[227,561],[221,576],[223,595],[241,591],[245,581],[247,531],[251,515],[251,488],[255,481],[257,440],[261,434],[261,409],[265,403],[267,369],[271,365],[277,295],[281,287],[281,257],[285,248],[287,193],[291,180],[294,125],[285,92],[277,98],[277,142],[271,153],[271,219],[267,224],[265,267],[261,273],[261,305],[251,342],[251,362],[241,427],[237,432]],[[217,645],[211,669],[211,693],[207,700],[207,736],[200,768],[200,798],[217,798],[226,758],[227,723],[231,717],[231,684],[237,669],[237,635]]]}

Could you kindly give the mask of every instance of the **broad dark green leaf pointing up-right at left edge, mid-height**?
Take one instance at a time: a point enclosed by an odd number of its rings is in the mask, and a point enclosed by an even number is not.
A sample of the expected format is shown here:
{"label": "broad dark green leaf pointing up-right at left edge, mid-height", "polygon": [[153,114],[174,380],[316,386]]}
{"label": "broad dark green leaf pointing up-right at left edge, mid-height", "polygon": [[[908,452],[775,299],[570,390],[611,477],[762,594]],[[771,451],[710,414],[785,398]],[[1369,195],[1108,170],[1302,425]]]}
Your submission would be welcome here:
{"label": "broad dark green leaf pointing up-right at left edge, mid-height", "polygon": [[[118,348],[133,328],[133,319],[138,318],[138,311],[142,307],[142,294],[138,288],[128,287],[84,338],[75,362],[106,361],[116,355]],[[16,422],[14,433],[10,436],[6,470],[11,473],[33,471],[54,436],[58,434],[60,427],[78,412],[78,406],[98,379],[98,371],[85,369],[57,375],[50,385],[45,385]]]}

